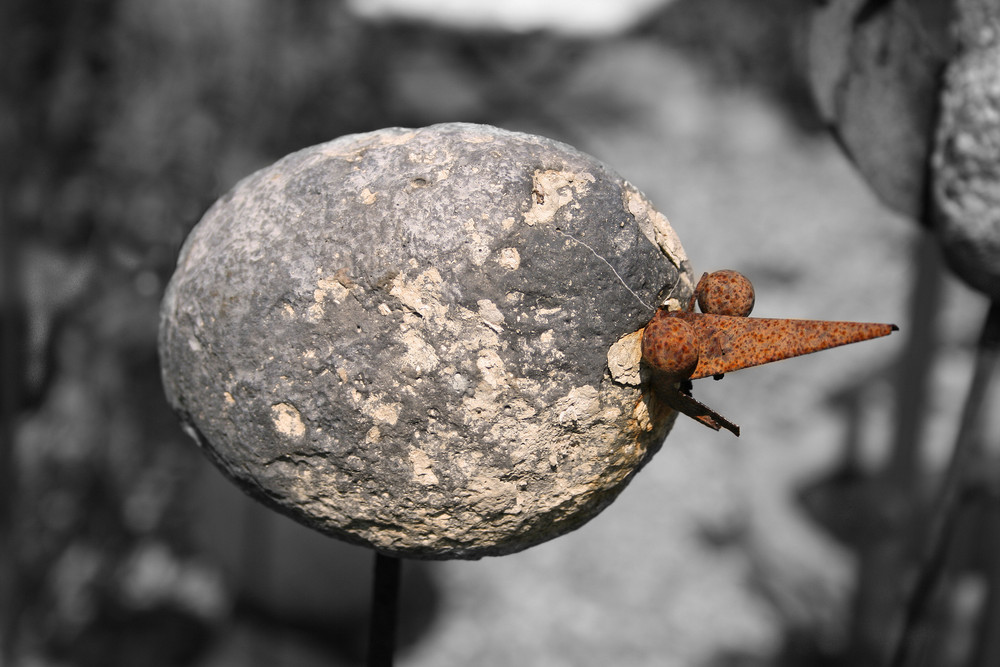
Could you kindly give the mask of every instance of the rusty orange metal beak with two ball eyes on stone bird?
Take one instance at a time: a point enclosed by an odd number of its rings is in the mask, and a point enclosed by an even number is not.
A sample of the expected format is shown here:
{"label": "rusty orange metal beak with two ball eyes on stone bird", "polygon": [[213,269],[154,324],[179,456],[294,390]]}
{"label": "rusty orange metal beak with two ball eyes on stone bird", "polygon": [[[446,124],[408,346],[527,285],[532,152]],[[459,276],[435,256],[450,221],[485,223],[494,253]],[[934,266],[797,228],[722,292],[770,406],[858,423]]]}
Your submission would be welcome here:
{"label": "rusty orange metal beak with two ball eyes on stone bird", "polygon": [[[697,299],[703,312],[695,313]],[[740,434],[736,424],[691,396],[691,380],[888,336],[895,324],[747,317],[750,281],[716,271],[698,281],[685,311],[660,308],[642,336],[642,359],[654,369],[653,389],[670,407],[702,424]]]}

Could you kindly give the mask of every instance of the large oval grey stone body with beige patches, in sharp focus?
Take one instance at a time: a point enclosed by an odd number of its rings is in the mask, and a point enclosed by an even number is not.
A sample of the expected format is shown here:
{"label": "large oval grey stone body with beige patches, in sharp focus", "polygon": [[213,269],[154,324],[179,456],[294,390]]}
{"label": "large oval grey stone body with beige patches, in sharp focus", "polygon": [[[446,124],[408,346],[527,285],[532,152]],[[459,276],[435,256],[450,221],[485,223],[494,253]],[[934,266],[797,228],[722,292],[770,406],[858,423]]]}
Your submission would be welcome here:
{"label": "large oval grey stone body with beige patches, in sharp focus", "polygon": [[585,523],[660,447],[675,414],[635,332],[691,292],[666,218],[593,158],[385,129],[206,213],[164,297],[163,382],[221,470],[295,520],[397,556],[501,555]]}

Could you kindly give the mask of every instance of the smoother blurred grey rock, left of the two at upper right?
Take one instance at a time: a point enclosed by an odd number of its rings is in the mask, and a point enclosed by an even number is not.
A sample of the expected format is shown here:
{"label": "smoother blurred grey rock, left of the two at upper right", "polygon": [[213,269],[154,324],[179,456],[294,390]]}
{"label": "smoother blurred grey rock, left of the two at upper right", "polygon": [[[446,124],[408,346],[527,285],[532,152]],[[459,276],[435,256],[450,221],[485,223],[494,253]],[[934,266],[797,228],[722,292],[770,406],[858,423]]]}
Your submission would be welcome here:
{"label": "smoother blurred grey rock, left of the two at upper right", "polygon": [[832,0],[817,3],[809,24],[820,115],[881,201],[920,221],[950,5]]}

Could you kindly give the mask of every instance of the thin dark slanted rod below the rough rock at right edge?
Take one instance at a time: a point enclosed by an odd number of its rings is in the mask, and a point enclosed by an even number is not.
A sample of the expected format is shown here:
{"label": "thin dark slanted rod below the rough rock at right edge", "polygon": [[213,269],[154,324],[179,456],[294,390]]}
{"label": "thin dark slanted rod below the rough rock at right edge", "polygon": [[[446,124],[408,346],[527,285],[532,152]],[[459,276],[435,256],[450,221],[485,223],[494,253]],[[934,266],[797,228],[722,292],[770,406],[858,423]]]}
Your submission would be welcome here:
{"label": "thin dark slanted rod below the rough rock at right edge", "polygon": [[890,663],[892,667],[904,667],[910,663],[911,656],[918,654],[920,630],[945,577],[948,546],[961,511],[963,491],[970,481],[969,468],[970,465],[974,466],[976,459],[979,458],[975,450],[980,446],[979,429],[984,399],[989,393],[990,383],[995,379],[998,358],[1000,358],[1000,301],[994,301],[990,304],[989,314],[986,316],[983,333],[979,339],[975,370],[962,409],[955,448],[931,516],[924,559],[906,606],[903,628]]}

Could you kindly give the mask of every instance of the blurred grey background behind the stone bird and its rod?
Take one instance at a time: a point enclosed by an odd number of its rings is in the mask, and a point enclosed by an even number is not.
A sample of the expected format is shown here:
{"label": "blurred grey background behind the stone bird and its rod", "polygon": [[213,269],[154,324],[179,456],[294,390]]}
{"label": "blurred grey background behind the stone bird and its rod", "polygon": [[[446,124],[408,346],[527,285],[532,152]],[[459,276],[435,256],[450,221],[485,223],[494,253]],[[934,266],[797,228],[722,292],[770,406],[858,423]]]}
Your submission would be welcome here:
{"label": "blurred grey background behind the stone bird and its rod", "polygon": [[[240,178],[343,134],[444,121],[566,141],[643,190],[754,314],[901,332],[699,381],[580,530],[407,562],[397,663],[878,664],[947,461],[986,299],[820,121],[797,0],[8,0],[0,261],[2,664],[364,661],[371,554],[244,497],[160,389],[159,301]],[[955,578],[930,664],[984,604]]]}

